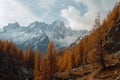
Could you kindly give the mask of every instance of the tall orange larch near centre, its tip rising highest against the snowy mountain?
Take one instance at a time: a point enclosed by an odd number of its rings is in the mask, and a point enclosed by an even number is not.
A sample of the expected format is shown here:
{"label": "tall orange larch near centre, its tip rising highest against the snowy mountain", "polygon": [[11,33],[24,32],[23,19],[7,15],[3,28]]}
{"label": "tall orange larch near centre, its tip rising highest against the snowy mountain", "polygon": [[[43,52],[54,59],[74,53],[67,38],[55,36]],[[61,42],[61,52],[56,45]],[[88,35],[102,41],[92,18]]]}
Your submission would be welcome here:
{"label": "tall orange larch near centre, its tip rising highest against the snowy mountain", "polygon": [[53,79],[54,74],[57,72],[57,50],[55,49],[53,41],[48,44],[46,56],[47,61],[49,62],[49,71],[50,71],[50,80]]}

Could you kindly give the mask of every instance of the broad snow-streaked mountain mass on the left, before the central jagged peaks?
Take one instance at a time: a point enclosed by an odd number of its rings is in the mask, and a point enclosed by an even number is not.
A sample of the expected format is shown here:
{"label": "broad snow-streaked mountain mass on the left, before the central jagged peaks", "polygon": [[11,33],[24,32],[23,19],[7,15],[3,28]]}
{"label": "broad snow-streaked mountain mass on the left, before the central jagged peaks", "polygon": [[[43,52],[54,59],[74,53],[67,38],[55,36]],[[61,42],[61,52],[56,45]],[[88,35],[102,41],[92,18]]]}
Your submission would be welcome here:
{"label": "broad snow-streaked mountain mass on the left, before the central jagged peaks", "polygon": [[15,42],[23,50],[28,48],[35,51],[41,49],[43,53],[49,43],[48,36],[42,30],[30,31],[27,27],[20,27],[18,23],[8,24],[4,27],[0,38]]}

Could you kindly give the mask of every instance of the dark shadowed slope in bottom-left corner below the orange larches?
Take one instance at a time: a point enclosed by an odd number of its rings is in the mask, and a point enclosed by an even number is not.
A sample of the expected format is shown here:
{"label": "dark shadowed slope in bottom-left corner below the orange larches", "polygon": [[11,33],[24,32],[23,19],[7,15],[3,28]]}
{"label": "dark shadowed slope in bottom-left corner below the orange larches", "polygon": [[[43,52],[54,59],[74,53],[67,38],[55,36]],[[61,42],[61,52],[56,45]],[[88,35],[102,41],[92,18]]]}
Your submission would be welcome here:
{"label": "dark shadowed slope in bottom-left corner below the orange larches", "polygon": [[31,76],[32,67],[0,51],[0,80],[26,80]]}

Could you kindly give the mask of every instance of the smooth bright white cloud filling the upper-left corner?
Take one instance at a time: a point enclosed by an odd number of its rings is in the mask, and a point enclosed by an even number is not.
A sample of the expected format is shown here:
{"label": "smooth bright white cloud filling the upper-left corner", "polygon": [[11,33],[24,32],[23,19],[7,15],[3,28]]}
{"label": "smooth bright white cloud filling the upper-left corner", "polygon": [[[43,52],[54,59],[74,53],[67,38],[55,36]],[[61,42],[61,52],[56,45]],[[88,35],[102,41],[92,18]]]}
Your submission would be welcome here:
{"label": "smooth bright white cloud filling the upper-left corner", "polygon": [[0,0],[0,27],[13,22],[28,25],[35,20],[40,19],[18,1]]}

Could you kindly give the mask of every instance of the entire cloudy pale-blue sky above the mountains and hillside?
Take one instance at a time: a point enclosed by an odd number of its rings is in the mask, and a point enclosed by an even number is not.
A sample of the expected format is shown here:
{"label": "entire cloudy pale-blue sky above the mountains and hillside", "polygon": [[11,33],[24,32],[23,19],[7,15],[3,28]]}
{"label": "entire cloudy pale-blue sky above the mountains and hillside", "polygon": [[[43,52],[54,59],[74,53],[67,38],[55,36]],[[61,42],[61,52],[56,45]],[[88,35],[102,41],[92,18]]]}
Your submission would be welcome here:
{"label": "entire cloudy pale-blue sky above the mountains and hillside", "polygon": [[97,13],[104,19],[118,0],[0,0],[0,27],[62,20],[72,29],[92,29]]}

